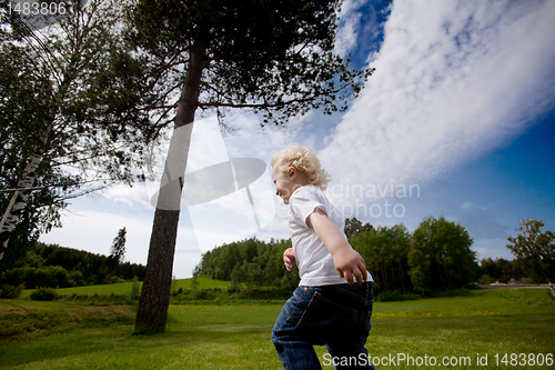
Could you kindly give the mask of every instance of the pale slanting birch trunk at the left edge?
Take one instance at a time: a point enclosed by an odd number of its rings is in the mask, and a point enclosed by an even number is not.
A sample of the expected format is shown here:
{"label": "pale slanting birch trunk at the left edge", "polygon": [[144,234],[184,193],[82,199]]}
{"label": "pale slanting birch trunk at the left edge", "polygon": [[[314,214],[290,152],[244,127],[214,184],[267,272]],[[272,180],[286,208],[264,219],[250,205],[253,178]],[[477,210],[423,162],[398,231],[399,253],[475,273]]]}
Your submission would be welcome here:
{"label": "pale slanting birch trunk at the left edge", "polygon": [[[47,142],[50,127],[47,127],[40,137],[40,142],[34,148],[34,154],[30,157],[26,169],[21,173],[21,178],[18,181],[18,189],[32,188],[34,179],[37,178],[37,170],[42,162],[42,149]],[[3,212],[2,220],[0,221],[0,260],[8,248],[11,233],[19,222],[19,218],[27,206],[27,200],[31,191],[32,190],[17,190],[13,192],[10,203]]]}

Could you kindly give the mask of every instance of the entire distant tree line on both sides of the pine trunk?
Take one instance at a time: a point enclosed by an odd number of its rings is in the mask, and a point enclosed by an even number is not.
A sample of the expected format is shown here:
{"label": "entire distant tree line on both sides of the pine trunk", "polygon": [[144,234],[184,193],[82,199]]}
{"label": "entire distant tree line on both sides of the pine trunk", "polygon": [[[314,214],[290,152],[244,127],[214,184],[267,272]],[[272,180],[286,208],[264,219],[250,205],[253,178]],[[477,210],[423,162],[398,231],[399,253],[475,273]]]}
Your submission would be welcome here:
{"label": "entire distant tree line on both sides of the pine trunk", "polygon": [[[377,291],[425,293],[456,289],[471,282],[532,283],[516,260],[476,260],[466,229],[444,218],[426,218],[413,233],[403,224],[373,228],[347,219],[345,234],[366,261]],[[283,251],[291,240],[256,238],[236,241],[204,253],[194,277],[232,282],[232,289],[270,288],[291,291],[299,271],[285,270]],[[144,279],[145,267],[113,264],[110,257],[52,244],[34,243],[18,259],[0,264],[0,286],[68,288]]]}

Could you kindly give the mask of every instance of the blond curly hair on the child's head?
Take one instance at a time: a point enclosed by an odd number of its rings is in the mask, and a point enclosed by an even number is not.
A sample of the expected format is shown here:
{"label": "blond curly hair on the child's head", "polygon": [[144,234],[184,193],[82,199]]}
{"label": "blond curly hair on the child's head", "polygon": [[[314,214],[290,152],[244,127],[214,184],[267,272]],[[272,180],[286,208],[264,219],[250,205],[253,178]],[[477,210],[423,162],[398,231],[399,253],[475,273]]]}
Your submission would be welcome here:
{"label": "blond curly hair on the child's head", "polygon": [[310,183],[322,190],[325,190],[332,180],[322,168],[314,150],[302,146],[295,146],[273,154],[270,164],[272,167],[280,166],[283,172],[287,172],[287,168],[294,167],[306,176]]}

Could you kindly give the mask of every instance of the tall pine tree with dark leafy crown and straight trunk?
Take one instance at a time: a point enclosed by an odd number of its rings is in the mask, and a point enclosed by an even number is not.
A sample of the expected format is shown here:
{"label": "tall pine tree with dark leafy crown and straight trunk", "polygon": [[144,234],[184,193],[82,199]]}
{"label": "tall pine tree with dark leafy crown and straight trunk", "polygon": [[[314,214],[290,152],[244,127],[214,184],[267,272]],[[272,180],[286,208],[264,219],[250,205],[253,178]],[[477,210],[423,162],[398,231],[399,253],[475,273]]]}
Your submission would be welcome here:
{"label": "tall pine tree with dark leafy crown and straight trunk", "polygon": [[[139,0],[130,40],[173,123],[135,332],[165,329],[190,132],[196,110],[248,109],[280,124],[311,109],[346,109],[373,70],[334,54],[339,0]],[[172,116],[174,113],[174,116]],[[223,123],[223,120],[221,121]]]}

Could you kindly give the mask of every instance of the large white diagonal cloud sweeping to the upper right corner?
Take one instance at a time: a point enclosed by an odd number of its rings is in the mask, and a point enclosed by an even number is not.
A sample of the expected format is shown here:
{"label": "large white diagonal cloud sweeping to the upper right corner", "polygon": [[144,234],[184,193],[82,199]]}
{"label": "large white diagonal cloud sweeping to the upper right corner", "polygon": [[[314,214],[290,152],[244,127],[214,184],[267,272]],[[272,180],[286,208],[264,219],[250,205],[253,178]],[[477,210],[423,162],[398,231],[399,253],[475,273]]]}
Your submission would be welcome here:
{"label": "large white diagonal cloud sweeping to the upper right corner", "polygon": [[555,2],[395,1],[376,72],[321,151],[335,179],[433,179],[553,107]]}

